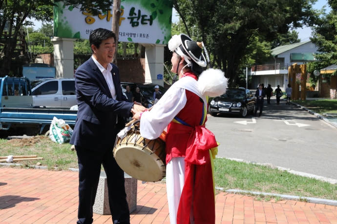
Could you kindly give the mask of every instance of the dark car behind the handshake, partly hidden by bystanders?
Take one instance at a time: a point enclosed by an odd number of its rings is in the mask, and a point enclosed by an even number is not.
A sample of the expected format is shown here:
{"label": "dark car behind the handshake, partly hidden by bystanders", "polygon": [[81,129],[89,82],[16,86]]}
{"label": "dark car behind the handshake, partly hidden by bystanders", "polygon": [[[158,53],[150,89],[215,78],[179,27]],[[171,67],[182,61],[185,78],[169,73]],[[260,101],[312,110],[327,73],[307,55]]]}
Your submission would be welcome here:
{"label": "dark car behind the handshake, partly hidden by bystanders", "polygon": [[149,106],[152,106],[154,104],[153,93],[154,93],[155,86],[159,86],[159,92],[162,93],[162,95],[164,95],[164,93],[166,93],[167,91],[161,85],[154,84],[154,83],[121,82],[123,93],[126,92],[126,86],[130,86],[131,93],[136,92],[136,88],[138,87],[140,89],[140,93],[142,94],[143,102],[147,100],[149,104],[151,104]]}

